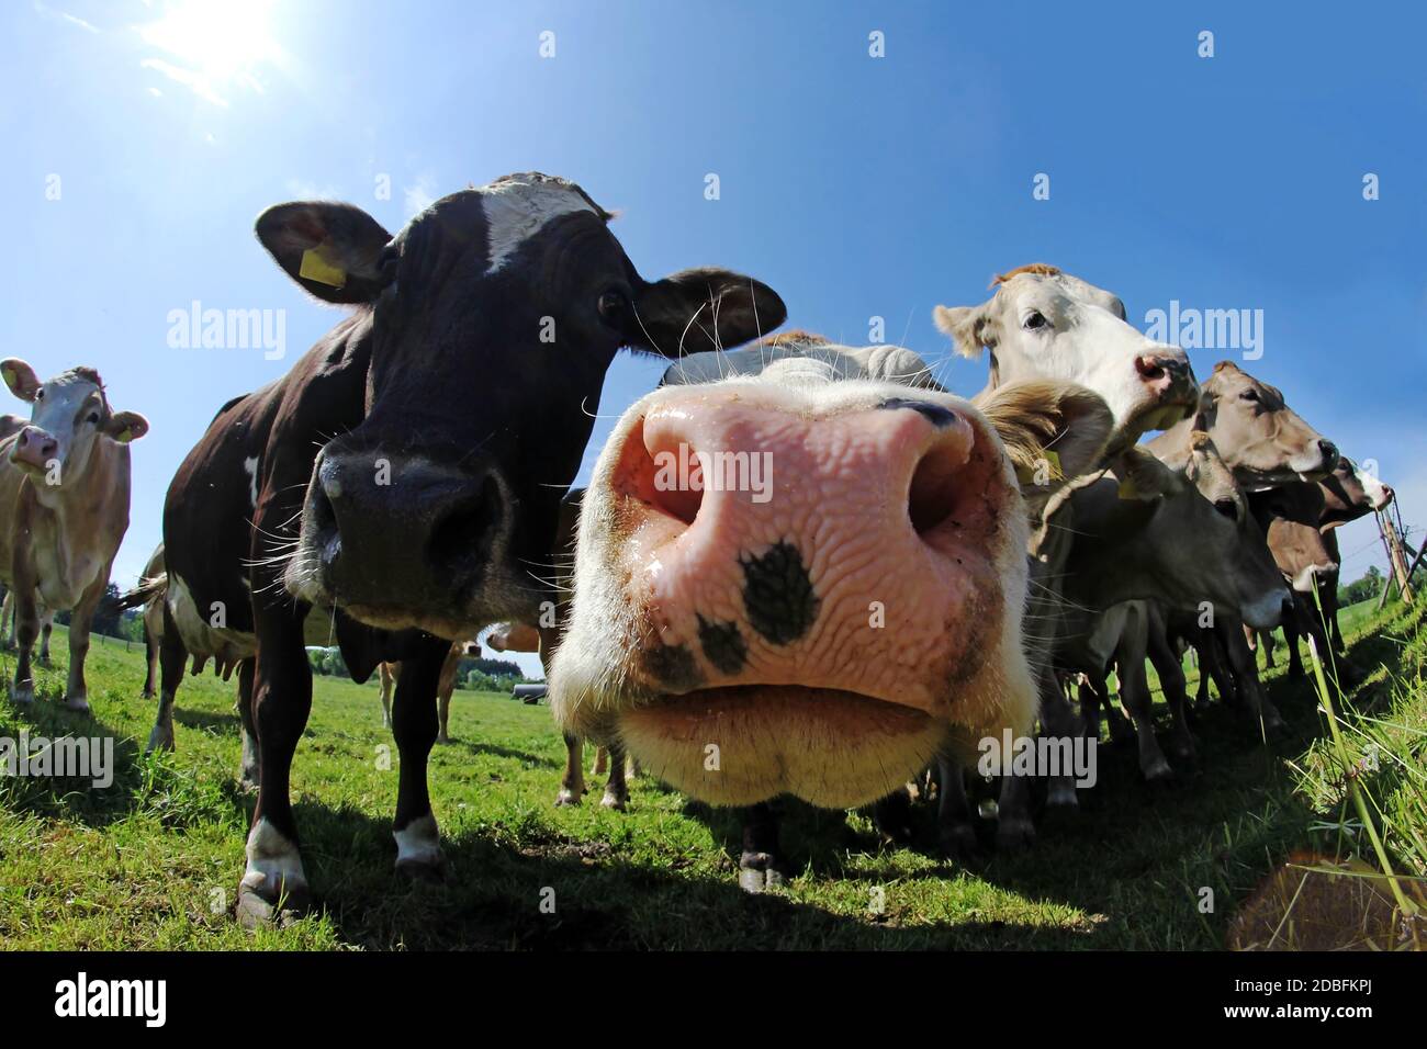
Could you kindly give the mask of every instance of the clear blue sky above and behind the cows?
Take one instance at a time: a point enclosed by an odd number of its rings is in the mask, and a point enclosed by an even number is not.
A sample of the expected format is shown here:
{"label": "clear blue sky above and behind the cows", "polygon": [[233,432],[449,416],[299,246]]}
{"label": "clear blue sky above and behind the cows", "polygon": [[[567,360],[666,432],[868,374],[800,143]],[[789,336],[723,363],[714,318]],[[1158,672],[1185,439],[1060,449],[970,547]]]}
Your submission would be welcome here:
{"label": "clear blue sky above and behind the cows", "polygon": [[[979,303],[1029,261],[1112,288],[1140,327],[1170,300],[1263,310],[1263,357],[1243,367],[1427,522],[1427,14],[1404,9],[6,4],[0,351],[46,377],[93,364],[116,408],[148,417],[127,585],[217,407],[338,320],[258,247],[258,211],[334,197],[395,231],[467,183],[542,170],[622,213],[646,278],[733,267],[798,327],[865,344],[883,317],[888,341],[933,360],[932,307]],[[171,347],[170,313],[194,300],[285,311],[285,357]],[[1190,351],[1202,377],[1237,355]],[[611,371],[586,470],[658,371]],[[973,394],[985,363],[940,374]],[[1381,564],[1370,522],[1341,541],[1346,578]]]}

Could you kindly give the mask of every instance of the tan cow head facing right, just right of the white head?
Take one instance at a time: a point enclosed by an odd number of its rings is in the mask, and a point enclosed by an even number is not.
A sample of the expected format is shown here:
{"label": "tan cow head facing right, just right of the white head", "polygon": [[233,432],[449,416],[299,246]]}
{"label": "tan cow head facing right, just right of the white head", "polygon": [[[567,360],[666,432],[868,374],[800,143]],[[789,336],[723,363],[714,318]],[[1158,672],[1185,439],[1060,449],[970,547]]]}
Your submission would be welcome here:
{"label": "tan cow head facing right, just right of the white head", "polygon": [[1233,361],[1214,365],[1194,425],[1213,434],[1224,462],[1249,488],[1316,481],[1339,461],[1334,444],[1304,422],[1277,387]]}

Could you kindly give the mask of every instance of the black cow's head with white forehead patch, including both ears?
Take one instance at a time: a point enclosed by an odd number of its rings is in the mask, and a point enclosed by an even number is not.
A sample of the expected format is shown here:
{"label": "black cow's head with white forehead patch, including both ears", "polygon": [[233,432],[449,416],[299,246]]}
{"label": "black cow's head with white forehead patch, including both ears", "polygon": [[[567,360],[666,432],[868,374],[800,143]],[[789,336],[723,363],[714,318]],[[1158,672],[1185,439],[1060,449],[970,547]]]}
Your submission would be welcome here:
{"label": "black cow's head with white forehead patch, including both ears", "polygon": [[645,281],[609,218],[541,174],[445,197],[395,237],[347,204],[258,218],[300,285],[371,311],[365,418],[317,455],[294,595],[448,638],[534,617],[615,353],[676,357],[782,323],[778,295],[736,273]]}

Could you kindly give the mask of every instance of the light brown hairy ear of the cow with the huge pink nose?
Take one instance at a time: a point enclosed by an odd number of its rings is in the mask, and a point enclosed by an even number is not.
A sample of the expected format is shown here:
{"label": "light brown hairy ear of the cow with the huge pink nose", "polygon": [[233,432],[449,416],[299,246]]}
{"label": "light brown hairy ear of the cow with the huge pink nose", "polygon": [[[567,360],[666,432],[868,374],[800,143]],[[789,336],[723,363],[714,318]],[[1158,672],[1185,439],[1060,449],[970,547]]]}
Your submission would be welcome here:
{"label": "light brown hairy ear of the cow with the huge pink nose", "polygon": [[1100,462],[1114,427],[1100,395],[1073,382],[1007,382],[973,404],[1000,435],[1033,515]]}

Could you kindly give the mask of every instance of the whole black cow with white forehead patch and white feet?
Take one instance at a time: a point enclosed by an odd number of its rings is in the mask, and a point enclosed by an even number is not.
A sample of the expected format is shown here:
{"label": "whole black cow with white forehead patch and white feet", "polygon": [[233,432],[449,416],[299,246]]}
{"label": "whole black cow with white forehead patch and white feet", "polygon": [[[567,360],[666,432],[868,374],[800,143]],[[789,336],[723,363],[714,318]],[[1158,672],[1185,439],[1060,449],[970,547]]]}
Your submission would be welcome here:
{"label": "whole black cow with white forehead patch and white feet", "polygon": [[440,878],[427,791],[451,641],[537,614],[559,500],[622,347],[676,358],[753,338],[785,308],[728,270],[645,281],[579,186],[517,174],[397,235],[351,204],[280,204],[257,237],[301,288],[355,307],[280,380],[230,401],[164,505],[160,709],[186,647],[237,661],[260,791],[237,916],[310,902],[288,775],[311,708],[304,621],[364,681],[400,661],[397,871]]}

